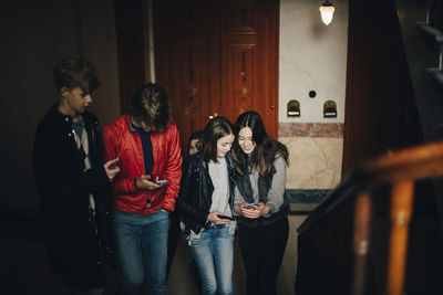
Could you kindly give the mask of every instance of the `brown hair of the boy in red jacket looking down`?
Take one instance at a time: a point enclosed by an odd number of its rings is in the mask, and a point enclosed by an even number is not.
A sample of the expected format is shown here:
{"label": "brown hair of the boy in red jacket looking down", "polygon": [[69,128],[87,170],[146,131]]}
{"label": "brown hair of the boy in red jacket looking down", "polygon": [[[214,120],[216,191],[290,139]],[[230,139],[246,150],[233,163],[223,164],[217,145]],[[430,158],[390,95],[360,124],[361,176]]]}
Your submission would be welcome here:
{"label": "brown hair of the boy in red jacket looking down", "polygon": [[130,115],[144,122],[154,131],[163,131],[171,123],[169,97],[158,84],[147,83],[131,97]]}

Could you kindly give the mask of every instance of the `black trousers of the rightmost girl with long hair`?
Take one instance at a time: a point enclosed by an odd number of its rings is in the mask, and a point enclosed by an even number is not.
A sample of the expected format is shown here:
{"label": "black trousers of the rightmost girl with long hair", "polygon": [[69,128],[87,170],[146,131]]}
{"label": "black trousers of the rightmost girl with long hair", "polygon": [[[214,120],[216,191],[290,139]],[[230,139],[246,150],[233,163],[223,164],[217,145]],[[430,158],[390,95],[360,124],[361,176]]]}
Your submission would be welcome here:
{"label": "black trousers of the rightmost girl with long hair", "polygon": [[277,294],[278,271],[288,242],[288,218],[257,228],[238,223],[238,230],[246,267],[246,294]]}

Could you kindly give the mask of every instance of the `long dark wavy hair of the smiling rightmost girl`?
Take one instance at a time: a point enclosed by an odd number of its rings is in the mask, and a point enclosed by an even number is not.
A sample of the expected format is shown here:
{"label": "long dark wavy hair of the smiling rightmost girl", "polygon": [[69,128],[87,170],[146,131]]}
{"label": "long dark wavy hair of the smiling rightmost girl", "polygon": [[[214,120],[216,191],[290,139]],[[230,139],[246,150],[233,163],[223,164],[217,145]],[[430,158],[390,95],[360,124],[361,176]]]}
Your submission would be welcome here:
{"label": "long dark wavy hair of the smiling rightmost girl", "polygon": [[[245,127],[251,129],[253,141],[256,144],[250,156],[246,155],[238,144],[238,134]],[[268,136],[257,112],[250,110],[240,114],[234,125],[234,133],[236,140],[234,140],[231,154],[234,160],[239,164],[237,171],[240,175],[250,173],[253,169],[257,169],[264,177],[270,177],[275,173],[274,161],[276,157],[282,157],[286,165],[289,165],[288,148]]]}

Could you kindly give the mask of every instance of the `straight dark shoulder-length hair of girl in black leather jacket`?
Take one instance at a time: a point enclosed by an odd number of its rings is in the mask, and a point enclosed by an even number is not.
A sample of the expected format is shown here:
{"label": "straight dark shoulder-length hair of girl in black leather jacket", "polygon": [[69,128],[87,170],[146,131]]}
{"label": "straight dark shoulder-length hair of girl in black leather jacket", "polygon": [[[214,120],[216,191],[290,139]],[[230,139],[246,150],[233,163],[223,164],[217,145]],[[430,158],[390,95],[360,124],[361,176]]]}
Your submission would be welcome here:
{"label": "straight dark shoulder-length hair of girl in black leather jacket", "polygon": [[227,135],[234,135],[233,124],[225,117],[212,119],[202,134],[202,158],[205,161],[217,162],[217,140]]}

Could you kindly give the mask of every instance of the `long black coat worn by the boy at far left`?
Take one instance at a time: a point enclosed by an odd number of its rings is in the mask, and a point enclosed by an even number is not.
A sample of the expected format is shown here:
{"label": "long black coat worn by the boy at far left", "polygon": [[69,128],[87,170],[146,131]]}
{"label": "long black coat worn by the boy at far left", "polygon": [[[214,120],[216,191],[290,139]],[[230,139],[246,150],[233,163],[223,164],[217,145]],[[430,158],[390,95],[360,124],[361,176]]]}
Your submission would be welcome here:
{"label": "long black coat worn by the boy at far left", "polygon": [[[103,168],[97,120],[87,112],[83,120],[91,169],[83,171],[84,160],[75,145],[72,119],[61,114],[56,105],[37,128],[32,165],[51,268],[71,287],[92,288],[104,282],[101,263],[103,250],[109,246],[105,226],[109,178]],[[95,218],[90,212],[91,192],[95,200]]]}

